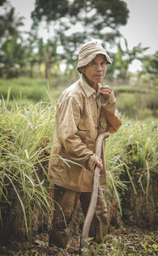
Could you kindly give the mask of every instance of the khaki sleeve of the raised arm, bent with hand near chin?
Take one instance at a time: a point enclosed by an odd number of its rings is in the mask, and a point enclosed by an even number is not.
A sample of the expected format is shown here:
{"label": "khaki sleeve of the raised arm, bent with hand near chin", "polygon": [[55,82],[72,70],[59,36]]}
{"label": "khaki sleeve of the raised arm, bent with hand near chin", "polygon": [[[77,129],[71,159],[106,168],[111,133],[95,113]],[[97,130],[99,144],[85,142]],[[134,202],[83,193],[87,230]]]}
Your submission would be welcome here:
{"label": "khaki sleeve of the raised arm, bent with hand near chin", "polygon": [[116,109],[116,100],[113,90],[111,95],[106,100],[103,100],[102,107],[107,118],[107,131],[111,133],[117,132],[122,125],[122,117],[118,109]]}

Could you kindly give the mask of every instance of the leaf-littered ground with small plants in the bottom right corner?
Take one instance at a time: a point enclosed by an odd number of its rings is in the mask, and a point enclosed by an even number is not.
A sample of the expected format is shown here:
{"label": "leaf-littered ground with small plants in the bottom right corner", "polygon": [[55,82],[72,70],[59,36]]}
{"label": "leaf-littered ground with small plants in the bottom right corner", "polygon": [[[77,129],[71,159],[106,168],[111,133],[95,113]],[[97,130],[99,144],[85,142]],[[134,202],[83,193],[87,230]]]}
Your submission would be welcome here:
{"label": "leaf-littered ground with small plants in the bottom right corner", "polygon": [[[123,232],[123,231],[122,231]],[[156,255],[158,252],[157,236],[133,234],[107,235],[100,245],[88,241],[88,248],[83,248],[81,255]],[[79,254],[77,254],[78,256]]]}

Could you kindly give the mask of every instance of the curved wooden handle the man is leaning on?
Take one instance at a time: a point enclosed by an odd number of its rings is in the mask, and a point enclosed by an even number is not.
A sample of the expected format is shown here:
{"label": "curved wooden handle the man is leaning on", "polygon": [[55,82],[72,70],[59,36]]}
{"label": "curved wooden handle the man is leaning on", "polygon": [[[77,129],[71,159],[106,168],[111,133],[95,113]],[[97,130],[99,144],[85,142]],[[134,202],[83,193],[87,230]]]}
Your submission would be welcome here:
{"label": "curved wooden handle the man is leaning on", "polygon": [[[96,139],[96,155],[98,156],[99,159],[101,156],[101,147],[102,147],[103,139],[107,139],[109,135],[110,135],[109,132],[102,132]],[[94,212],[96,208],[99,178],[100,178],[100,167],[96,166],[94,170],[91,200],[88,206],[88,212],[85,216],[85,223],[81,233],[81,243],[80,243],[81,249],[88,246],[88,242],[87,242],[88,232],[89,232],[89,227],[91,225],[92,217],[94,216]]]}

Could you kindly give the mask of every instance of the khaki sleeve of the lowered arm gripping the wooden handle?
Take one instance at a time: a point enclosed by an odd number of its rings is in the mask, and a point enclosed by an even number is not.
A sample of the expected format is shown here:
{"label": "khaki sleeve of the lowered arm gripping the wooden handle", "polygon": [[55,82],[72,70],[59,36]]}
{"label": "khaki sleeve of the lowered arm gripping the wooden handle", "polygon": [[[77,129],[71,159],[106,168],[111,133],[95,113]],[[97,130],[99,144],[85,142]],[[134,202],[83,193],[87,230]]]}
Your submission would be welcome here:
{"label": "khaki sleeve of the lowered arm gripping the wooden handle", "polygon": [[81,117],[80,110],[80,103],[75,97],[68,97],[62,101],[57,109],[58,137],[69,159],[92,171],[98,158],[77,135],[77,126]]}

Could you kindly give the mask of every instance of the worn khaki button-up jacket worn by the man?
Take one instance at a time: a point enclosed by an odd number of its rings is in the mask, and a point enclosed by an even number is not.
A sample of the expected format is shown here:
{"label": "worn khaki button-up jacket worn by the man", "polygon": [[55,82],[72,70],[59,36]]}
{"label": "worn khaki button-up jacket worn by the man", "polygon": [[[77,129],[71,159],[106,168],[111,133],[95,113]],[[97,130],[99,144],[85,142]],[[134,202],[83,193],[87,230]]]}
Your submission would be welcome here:
{"label": "worn khaki button-up jacket worn by the man", "polygon": [[[116,132],[122,124],[115,109],[114,93],[104,98],[100,84],[96,92],[81,75],[59,97],[55,122],[49,163],[52,183],[74,191],[92,191],[92,170],[97,162],[96,138],[100,132]],[[102,161],[100,189],[106,189],[104,146]]]}

